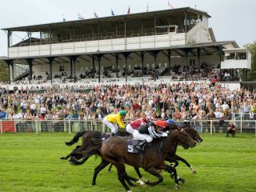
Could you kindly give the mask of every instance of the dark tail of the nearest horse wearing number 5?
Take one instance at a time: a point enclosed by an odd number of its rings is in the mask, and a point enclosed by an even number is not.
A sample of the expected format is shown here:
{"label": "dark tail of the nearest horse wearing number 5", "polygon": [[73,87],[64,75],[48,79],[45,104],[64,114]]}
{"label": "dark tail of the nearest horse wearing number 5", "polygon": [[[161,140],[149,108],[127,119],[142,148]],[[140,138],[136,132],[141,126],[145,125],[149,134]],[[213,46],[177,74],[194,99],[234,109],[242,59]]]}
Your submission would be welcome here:
{"label": "dark tail of the nearest horse wearing number 5", "polygon": [[101,140],[98,140],[98,139],[95,139],[94,141],[94,146],[91,146],[89,149],[83,151],[83,157],[82,157],[82,160],[81,161],[78,161],[77,158],[75,158],[74,156],[71,156],[70,157],[70,162],[74,165],[82,165],[84,162],[86,162],[86,160],[88,158],[90,158],[90,156],[92,155],[96,155],[96,157],[98,155],[101,155],[100,154],[100,149],[102,147],[102,141]]}

